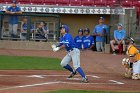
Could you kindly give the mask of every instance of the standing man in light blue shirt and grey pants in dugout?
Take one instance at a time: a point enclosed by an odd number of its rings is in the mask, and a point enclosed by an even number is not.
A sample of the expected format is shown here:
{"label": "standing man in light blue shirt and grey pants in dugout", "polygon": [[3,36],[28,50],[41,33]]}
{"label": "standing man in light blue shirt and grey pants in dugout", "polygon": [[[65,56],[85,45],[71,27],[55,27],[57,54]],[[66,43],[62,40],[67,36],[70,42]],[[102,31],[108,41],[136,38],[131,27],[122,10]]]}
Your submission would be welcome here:
{"label": "standing man in light blue shirt and grey pants in dugout", "polygon": [[99,18],[99,24],[93,29],[93,36],[96,40],[96,50],[98,52],[104,52],[104,43],[106,42],[106,35],[108,33],[108,27],[104,24],[104,18]]}

